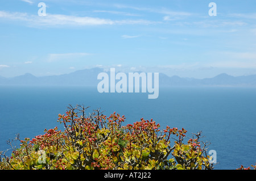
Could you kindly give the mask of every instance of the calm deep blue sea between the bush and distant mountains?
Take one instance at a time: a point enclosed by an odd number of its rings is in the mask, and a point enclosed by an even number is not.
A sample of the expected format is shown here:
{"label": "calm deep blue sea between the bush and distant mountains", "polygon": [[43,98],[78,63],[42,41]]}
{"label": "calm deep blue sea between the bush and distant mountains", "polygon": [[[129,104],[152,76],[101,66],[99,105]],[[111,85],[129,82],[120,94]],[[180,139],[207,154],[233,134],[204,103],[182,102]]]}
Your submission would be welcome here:
{"label": "calm deep blue sea between the bush and distant mountains", "polygon": [[[203,132],[216,150],[214,169],[237,169],[256,163],[256,89],[241,87],[169,87],[159,90],[158,99],[147,93],[99,93],[97,87],[83,86],[1,86],[0,150],[14,138],[33,138],[44,129],[63,124],[56,120],[69,104],[90,106],[88,114],[101,108],[109,116],[125,115],[126,123],[153,119],[162,128]],[[17,143],[19,145],[19,143]]]}

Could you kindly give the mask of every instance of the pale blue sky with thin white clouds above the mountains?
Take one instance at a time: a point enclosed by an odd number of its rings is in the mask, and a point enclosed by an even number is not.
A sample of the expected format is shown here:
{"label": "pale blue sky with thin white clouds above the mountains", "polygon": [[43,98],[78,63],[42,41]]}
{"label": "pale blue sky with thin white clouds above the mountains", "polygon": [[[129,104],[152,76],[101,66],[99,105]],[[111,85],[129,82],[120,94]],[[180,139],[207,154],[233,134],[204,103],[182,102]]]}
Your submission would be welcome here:
{"label": "pale blue sky with thin white clouds above the mountains", "polygon": [[255,0],[0,1],[2,77],[95,67],[191,78],[250,75],[255,50]]}

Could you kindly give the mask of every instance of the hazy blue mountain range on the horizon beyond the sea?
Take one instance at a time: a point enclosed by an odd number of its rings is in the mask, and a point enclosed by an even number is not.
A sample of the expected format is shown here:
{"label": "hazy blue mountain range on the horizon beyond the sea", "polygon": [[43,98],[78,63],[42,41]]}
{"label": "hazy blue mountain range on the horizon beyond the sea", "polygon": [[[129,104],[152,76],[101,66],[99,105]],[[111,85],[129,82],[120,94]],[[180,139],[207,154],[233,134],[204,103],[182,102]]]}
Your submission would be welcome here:
{"label": "hazy blue mountain range on the horizon beyond the sea", "polygon": [[[73,73],[63,75],[51,75],[35,77],[26,73],[13,78],[0,76],[0,85],[86,85],[97,86],[100,80],[97,79],[99,73],[104,72],[101,68],[77,70]],[[117,72],[116,72],[117,73]],[[108,73],[109,74],[109,73]],[[128,77],[128,76],[127,76]],[[219,74],[213,78],[181,78],[178,76],[168,77],[159,73],[159,86],[255,86],[256,75],[246,75],[233,77],[228,74]]]}

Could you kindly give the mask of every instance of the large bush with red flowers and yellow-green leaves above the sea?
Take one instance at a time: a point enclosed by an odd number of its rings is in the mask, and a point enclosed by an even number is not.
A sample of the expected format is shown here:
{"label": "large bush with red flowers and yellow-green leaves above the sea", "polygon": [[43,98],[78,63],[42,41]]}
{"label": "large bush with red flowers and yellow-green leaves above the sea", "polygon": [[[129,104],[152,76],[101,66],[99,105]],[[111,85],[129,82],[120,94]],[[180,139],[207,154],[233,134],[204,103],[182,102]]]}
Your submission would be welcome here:
{"label": "large bush with red flowers and yellow-green leaves above the sea", "polygon": [[57,127],[45,134],[11,145],[13,153],[0,154],[0,169],[213,169],[208,142],[199,142],[201,132],[184,141],[187,131],[166,127],[153,120],[122,125],[125,116],[109,117],[94,110],[69,106]]}

